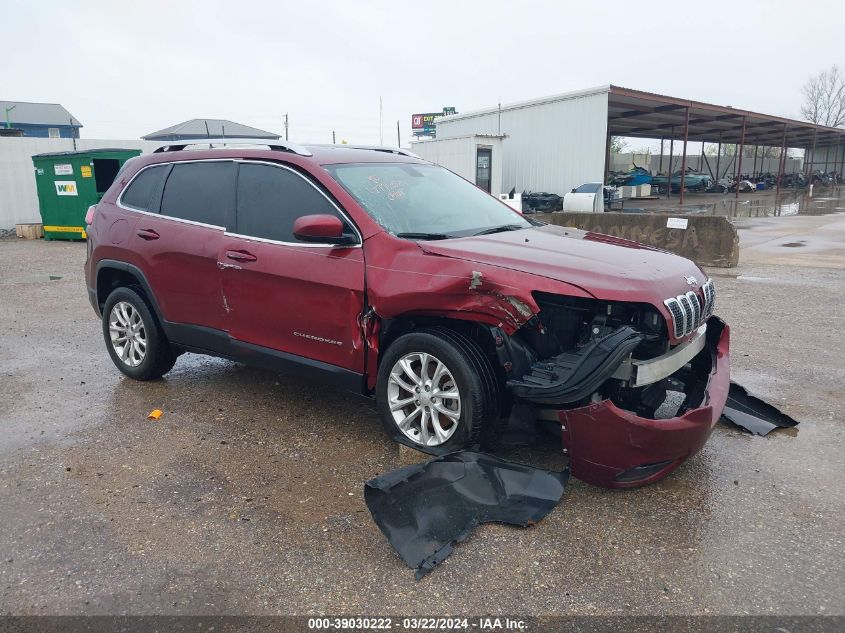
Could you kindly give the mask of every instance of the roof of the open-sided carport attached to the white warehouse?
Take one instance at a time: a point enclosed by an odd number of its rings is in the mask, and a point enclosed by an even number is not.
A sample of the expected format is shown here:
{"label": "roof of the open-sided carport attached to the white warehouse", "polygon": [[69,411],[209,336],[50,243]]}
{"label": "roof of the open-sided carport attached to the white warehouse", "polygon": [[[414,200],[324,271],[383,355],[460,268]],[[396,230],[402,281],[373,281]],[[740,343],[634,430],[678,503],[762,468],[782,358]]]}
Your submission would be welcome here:
{"label": "roof of the open-sided carport attached to the white warehouse", "polygon": [[780,146],[786,131],[787,147],[811,147],[845,143],[845,129],[761,114],[731,106],[610,86],[608,132],[613,136],[683,140],[689,109],[690,141],[739,143],[745,123],[746,145]]}

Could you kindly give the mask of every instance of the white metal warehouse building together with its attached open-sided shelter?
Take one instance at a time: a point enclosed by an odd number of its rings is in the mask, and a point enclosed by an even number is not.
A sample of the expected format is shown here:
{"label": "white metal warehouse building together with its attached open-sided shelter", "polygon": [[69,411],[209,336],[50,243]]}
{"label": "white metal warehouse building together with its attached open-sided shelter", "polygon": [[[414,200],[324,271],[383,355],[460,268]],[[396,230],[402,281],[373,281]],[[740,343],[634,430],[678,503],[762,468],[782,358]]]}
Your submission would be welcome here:
{"label": "white metal warehouse building together with its attached open-sided shelter", "polygon": [[842,173],[845,166],[843,129],[613,85],[447,116],[436,126],[436,143],[503,137],[502,188],[494,195],[511,188],[562,195],[603,182],[611,136],[665,140],[680,159],[673,170],[685,171],[693,141],[736,144],[739,154],[743,146],[802,148],[808,172]]}

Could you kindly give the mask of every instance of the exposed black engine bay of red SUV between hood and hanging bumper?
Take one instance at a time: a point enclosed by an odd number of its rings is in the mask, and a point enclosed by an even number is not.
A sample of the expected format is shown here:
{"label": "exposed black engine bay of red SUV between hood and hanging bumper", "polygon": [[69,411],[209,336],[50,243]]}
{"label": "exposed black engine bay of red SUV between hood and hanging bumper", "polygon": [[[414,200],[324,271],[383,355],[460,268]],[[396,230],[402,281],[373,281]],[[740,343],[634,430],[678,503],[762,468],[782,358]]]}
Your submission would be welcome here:
{"label": "exposed black engine bay of red SUV between hood and hanging bumper", "polygon": [[517,398],[554,409],[610,400],[648,419],[702,404],[713,367],[706,342],[718,335],[707,331],[702,305],[695,306],[688,340],[673,347],[666,320],[649,304],[534,296],[539,314],[496,339],[500,361],[511,363],[507,384]]}

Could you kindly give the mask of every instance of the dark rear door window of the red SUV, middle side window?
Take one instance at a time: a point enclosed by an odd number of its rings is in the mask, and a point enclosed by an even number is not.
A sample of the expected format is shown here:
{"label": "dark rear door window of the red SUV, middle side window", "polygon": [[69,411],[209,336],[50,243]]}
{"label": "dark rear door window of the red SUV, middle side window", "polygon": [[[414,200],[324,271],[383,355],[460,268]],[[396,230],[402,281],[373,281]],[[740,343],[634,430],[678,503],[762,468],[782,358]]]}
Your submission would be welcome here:
{"label": "dark rear door window of the red SUV, middle side window", "polygon": [[232,161],[176,163],[164,186],[161,214],[231,230],[236,179]]}

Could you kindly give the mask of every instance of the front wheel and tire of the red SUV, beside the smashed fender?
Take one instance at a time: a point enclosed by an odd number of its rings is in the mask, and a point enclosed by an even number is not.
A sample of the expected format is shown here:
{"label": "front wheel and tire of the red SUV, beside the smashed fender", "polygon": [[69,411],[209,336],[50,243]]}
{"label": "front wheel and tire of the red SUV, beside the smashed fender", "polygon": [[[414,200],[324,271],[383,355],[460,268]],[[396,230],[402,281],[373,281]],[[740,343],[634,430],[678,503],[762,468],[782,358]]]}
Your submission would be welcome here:
{"label": "front wheel and tire of the red SUV, beside the smashed fender", "polygon": [[[421,371],[424,358],[425,375]],[[400,361],[408,364],[414,378]],[[441,364],[445,372],[435,382]],[[426,390],[426,383],[431,391]],[[457,393],[458,397],[438,398],[443,393]],[[376,406],[384,430],[394,441],[426,453],[444,455],[493,443],[500,397],[493,367],[479,345],[445,327],[405,334],[381,359]],[[402,403],[407,404],[391,410],[391,405]]]}

